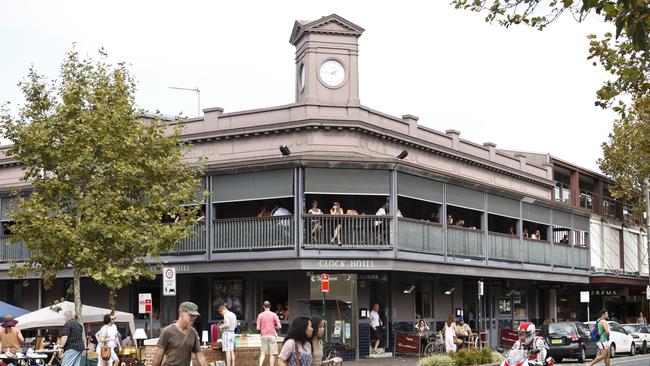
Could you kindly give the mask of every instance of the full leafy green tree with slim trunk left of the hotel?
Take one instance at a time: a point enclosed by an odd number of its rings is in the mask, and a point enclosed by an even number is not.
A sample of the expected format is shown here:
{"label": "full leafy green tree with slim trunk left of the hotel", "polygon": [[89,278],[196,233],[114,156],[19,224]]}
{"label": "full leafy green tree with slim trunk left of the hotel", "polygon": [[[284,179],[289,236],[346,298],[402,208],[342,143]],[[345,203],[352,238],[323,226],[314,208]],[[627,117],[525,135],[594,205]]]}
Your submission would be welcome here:
{"label": "full leafy green tree with slim trunk left of the hotel", "polygon": [[71,268],[81,314],[81,277],[113,293],[153,277],[145,258],[190,234],[197,208],[183,204],[194,198],[203,162],[184,160],[180,124],[139,118],[133,78],[125,64],[107,63],[103,50],[95,61],[73,49],[59,81],[32,67],[19,87],[25,105],[15,118],[4,106],[0,124],[13,142],[7,154],[33,186],[11,212],[11,241],[24,241],[32,255],[10,273],[36,274],[48,288]]}

